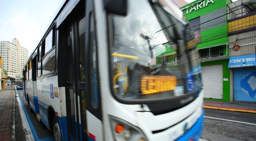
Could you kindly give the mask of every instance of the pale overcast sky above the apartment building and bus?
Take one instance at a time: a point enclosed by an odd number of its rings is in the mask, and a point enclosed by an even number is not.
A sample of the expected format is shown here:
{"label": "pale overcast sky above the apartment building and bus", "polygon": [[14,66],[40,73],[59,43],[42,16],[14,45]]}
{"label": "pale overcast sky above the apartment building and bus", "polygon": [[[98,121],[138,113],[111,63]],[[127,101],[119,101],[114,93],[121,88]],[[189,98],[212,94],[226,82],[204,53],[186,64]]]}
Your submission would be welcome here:
{"label": "pale overcast sky above the apartment building and bus", "polygon": [[30,55],[64,1],[0,0],[0,41],[17,38]]}

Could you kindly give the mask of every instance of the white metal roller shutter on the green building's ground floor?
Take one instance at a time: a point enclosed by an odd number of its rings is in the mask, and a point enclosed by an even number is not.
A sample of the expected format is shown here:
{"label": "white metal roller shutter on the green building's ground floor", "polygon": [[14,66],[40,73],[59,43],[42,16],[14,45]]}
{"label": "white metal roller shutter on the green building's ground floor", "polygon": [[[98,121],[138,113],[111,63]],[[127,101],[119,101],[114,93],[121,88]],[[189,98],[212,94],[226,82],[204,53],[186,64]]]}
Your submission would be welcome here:
{"label": "white metal roller shutter on the green building's ground floor", "polygon": [[223,99],[223,66],[211,65],[202,67],[204,98]]}

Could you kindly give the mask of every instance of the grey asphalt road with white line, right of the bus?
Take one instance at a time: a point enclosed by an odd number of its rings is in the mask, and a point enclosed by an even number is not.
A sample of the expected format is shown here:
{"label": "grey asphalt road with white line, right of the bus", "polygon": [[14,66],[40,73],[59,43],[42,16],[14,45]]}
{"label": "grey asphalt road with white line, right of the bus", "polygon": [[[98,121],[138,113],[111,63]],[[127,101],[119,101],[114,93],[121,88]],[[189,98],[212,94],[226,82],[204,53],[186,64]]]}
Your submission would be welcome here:
{"label": "grey asphalt road with white line, right of the bus", "polygon": [[211,109],[205,111],[202,139],[256,141],[256,114]]}

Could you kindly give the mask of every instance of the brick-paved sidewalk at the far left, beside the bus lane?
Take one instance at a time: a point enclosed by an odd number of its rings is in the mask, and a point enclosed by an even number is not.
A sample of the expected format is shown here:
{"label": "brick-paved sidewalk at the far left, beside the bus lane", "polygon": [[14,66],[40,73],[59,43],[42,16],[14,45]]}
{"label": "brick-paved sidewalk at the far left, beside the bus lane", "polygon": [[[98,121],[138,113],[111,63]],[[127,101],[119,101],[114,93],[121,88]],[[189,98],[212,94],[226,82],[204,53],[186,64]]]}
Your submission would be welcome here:
{"label": "brick-paved sidewalk at the far left, beside the bus lane", "polygon": [[8,87],[0,90],[0,141],[15,140],[14,122],[14,89]]}

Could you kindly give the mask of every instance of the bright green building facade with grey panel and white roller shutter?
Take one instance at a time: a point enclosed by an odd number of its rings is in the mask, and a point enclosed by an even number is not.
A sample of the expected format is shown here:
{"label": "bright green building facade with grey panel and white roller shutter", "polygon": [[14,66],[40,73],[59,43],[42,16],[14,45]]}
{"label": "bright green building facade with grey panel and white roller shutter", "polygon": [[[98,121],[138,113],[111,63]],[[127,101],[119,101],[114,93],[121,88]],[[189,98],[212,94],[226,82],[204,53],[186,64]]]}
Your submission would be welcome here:
{"label": "bright green building facade with grey panel and white roller shutter", "polygon": [[181,7],[199,49],[205,100],[230,101],[229,3],[231,0],[197,0]]}

